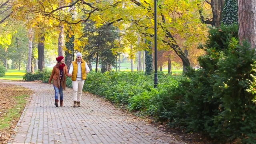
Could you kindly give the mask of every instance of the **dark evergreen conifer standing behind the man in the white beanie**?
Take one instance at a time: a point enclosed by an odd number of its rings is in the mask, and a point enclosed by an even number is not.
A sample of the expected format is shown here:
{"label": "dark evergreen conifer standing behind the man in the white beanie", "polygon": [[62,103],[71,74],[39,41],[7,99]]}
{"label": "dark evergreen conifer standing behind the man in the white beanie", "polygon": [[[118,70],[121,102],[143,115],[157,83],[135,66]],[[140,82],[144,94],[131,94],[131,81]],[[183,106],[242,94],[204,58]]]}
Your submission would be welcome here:
{"label": "dark evergreen conifer standing behind the man in the white beanie", "polygon": [[113,55],[111,49],[116,48],[114,41],[119,38],[118,29],[112,25],[96,28],[94,22],[87,22],[84,29],[84,37],[87,37],[89,42],[84,47],[84,50],[88,52],[88,56],[85,56],[85,59],[88,62],[102,64],[102,73],[110,71],[111,67],[116,65],[116,56]]}

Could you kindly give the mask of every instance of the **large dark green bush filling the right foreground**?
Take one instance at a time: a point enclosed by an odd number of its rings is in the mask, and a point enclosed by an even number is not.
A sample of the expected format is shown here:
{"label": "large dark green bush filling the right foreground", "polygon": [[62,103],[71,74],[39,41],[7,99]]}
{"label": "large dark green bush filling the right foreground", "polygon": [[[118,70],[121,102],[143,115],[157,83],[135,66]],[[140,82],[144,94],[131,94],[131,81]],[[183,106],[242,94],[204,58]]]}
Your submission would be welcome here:
{"label": "large dark green bush filling the right foreground", "polygon": [[255,51],[238,45],[237,25],[212,28],[202,48],[201,68],[156,97],[158,120],[222,142],[256,143]]}

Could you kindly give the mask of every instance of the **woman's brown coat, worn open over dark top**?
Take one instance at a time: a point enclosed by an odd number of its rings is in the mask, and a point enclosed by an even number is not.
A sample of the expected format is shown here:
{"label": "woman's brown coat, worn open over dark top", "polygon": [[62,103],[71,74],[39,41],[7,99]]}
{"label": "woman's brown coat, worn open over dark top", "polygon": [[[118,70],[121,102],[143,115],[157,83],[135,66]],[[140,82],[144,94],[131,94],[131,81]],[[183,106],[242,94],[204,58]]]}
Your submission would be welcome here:
{"label": "woman's brown coat, worn open over dark top", "polygon": [[60,69],[56,67],[56,65],[52,68],[52,74],[49,78],[49,83],[53,80],[53,85],[60,89],[60,85],[62,86],[63,90],[66,90],[66,76],[68,74],[68,68],[65,65],[63,68],[63,77],[60,78]]}

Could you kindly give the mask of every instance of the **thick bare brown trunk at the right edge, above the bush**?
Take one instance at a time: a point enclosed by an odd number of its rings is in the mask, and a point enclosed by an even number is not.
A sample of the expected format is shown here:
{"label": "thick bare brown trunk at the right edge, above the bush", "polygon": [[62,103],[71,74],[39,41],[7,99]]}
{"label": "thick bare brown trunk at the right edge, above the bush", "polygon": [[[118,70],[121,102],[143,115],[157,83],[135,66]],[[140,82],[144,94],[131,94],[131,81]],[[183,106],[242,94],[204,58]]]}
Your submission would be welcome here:
{"label": "thick bare brown trunk at the right edge, above the bush", "polygon": [[248,40],[256,48],[256,0],[238,0],[239,42]]}

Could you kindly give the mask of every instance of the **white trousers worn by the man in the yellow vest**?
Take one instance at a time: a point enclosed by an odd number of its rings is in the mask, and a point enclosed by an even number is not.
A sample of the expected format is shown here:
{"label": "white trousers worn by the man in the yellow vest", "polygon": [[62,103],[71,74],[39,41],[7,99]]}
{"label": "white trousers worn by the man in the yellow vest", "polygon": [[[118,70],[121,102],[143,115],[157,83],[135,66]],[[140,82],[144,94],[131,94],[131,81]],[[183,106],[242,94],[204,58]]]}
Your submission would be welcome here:
{"label": "white trousers worn by the man in the yellow vest", "polygon": [[82,97],[82,90],[84,87],[84,80],[72,81],[73,86],[73,100],[80,102]]}

